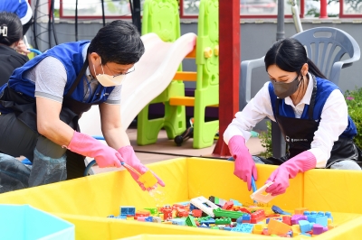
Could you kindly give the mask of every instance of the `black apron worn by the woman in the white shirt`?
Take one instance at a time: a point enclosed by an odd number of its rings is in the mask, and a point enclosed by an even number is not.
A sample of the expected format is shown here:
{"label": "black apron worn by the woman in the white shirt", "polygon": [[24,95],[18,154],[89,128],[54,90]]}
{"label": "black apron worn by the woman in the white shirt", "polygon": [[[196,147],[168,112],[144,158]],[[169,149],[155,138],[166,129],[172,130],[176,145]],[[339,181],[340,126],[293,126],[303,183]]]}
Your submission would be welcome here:
{"label": "black apron worn by the woman in the white shirt", "polygon": [[[289,152],[281,158],[262,158],[262,162],[272,165],[281,165],[283,162],[288,161],[301,152],[310,149],[310,143],[313,141],[314,133],[318,130],[319,127],[319,120],[316,121],[313,119],[313,111],[317,94],[317,81],[314,76],[312,76],[311,80],[313,81],[313,92],[310,97],[310,107],[308,110],[309,119],[279,115],[279,105],[281,99],[277,98],[275,101],[274,116],[279,127],[281,128],[281,133],[283,134],[285,142],[288,145]],[[330,168],[332,164],[344,160],[360,162],[361,156],[361,151],[352,139],[339,136],[338,141],[334,142],[326,168]]]}

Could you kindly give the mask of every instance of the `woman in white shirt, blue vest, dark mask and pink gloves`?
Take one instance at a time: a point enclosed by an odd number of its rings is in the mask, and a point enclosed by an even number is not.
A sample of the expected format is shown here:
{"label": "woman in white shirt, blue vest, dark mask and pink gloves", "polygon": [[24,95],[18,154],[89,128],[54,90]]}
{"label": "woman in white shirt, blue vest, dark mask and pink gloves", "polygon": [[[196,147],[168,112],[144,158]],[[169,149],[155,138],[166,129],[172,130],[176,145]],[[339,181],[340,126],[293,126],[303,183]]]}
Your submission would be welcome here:
{"label": "woman in white shirt, blue vest, dark mask and pink gloves", "polygon": [[[358,170],[361,151],[353,142],[356,125],[340,89],[307,57],[304,46],[288,38],[275,42],[265,55],[271,79],[238,112],[224,132],[233,155],[234,175],[247,182],[257,180],[256,163],[280,165],[267,182],[271,195],[285,192],[299,171],[314,168]],[[281,157],[252,156],[245,146],[250,132],[264,117],[278,123],[289,146]]]}

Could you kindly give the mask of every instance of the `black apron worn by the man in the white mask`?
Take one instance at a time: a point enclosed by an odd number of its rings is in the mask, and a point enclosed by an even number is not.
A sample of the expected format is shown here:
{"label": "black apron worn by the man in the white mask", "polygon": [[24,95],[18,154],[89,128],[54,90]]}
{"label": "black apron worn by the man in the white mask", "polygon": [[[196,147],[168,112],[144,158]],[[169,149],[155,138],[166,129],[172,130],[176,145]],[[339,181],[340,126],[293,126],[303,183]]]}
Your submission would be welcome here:
{"label": "black apron worn by the man in the white mask", "polygon": [[[80,132],[78,120],[82,113],[90,110],[92,105],[100,103],[83,103],[71,98],[71,94],[77,88],[81,79],[88,68],[88,59],[84,62],[81,72],[71,85],[68,93],[63,97],[62,110],[60,119],[67,125],[70,125],[74,130]],[[12,88],[5,88],[4,94],[0,97],[0,104],[14,110],[17,119],[22,121],[25,125],[31,128],[35,133],[37,131],[36,125],[36,102],[35,98],[24,96],[21,92],[15,92]],[[67,154],[67,175],[68,180],[82,177],[85,170],[84,159],[85,157],[76,152],[66,151]]]}

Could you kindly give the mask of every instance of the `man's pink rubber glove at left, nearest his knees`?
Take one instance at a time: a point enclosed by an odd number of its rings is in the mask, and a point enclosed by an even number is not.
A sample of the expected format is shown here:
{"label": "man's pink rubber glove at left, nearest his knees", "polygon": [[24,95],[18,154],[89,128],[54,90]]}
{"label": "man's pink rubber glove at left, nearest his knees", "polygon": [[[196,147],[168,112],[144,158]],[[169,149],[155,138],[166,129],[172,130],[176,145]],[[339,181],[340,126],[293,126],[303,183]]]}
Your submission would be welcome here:
{"label": "man's pink rubber glove at left, nearest his knees", "polygon": [[83,156],[94,158],[100,168],[118,167],[122,165],[122,156],[115,149],[100,143],[90,135],[81,134],[74,131],[71,143],[68,147],[71,152],[77,152]]}

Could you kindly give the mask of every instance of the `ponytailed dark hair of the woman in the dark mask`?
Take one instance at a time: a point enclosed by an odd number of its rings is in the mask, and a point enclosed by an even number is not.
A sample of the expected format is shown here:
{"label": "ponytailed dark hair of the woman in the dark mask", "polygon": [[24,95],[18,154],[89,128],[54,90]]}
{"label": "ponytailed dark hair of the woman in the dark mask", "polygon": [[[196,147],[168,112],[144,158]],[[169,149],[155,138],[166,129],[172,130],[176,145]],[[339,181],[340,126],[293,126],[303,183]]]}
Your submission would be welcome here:
{"label": "ponytailed dark hair of the woman in the dark mask", "polygon": [[300,74],[300,69],[304,63],[308,63],[309,72],[319,78],[325,78],[318,67],[307,57],[307,51],[304,46],[296,39],[286,38],[275,42],[265,55],[265,69],[271,65],[277,65],[280,69],[297,72]]}

